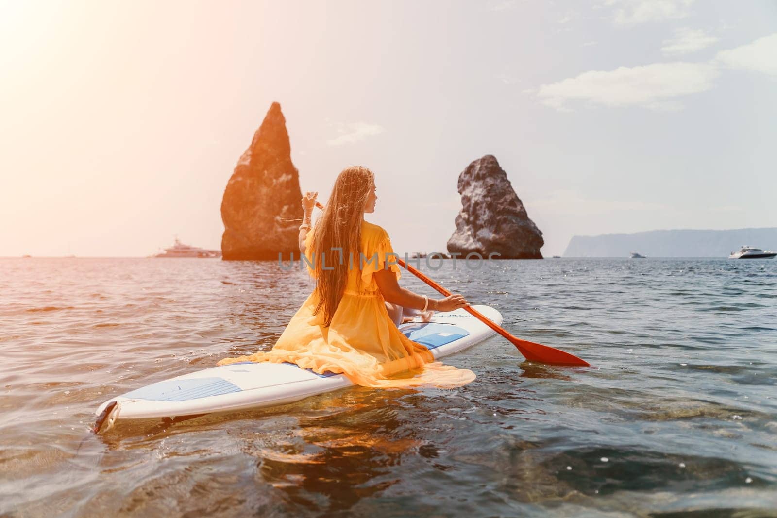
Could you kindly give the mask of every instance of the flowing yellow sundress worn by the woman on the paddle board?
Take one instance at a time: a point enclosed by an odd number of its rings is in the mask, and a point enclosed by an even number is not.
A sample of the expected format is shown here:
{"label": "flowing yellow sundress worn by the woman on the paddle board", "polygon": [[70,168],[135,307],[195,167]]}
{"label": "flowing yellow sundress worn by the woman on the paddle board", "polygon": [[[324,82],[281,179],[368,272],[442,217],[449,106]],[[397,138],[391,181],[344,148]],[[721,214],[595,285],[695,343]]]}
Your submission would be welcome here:
{"label": "flowing yellow sundress worn by the woman on the paddle board", "polygon": [[[313,231],[309,231],[305,238],[305,256],[309,261],[315,256],[311,250]],[[386,266],[386,254],[389,254],[389,263],[394,254],[389,234],[378,225],[363,221],[361,252],[366,259],[354,258],[346,290],[329,327],[323,325],[323,315],[313,315],[319,302],[313,290],[291,318],[273,349],[251,356],[225,358],[218,364],[291,362],[318,374],[326,371],[343,373],[354,384],[375,388],[420,385],[453,388],[474,380],[472,370],[434,361],[429,349],[408,339],[389,318],[383,296],[373,279],[373,274],[385,267],[391,269],[398,280],[402,276],[399,266]],[[377,260],[369,260],[375,254]],[[328,266],[333,264],[333,260],[340,259],[329,257],[330,254],[326,256],[325,264]],[[348,258],[343,259],[347,263]],[[314,270],[310,266],[307,268],[308,273],[315,276]]]}

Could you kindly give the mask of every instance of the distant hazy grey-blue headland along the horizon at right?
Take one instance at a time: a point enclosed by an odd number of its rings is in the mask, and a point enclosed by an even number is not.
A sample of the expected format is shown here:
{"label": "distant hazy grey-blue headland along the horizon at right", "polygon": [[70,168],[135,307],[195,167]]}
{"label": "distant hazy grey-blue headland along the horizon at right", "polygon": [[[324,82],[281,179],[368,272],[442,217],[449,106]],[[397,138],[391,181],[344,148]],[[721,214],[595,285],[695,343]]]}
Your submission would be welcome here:
{"label": "distant hazy grey-blue headland along the horizon at right", "polygon": [[636,234],[576,235],[564,257],[728,257],[742,245],[777,249],[777,228],[653,230]]}

